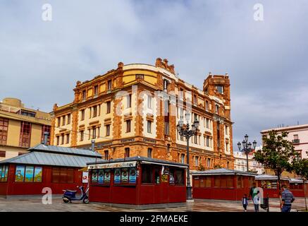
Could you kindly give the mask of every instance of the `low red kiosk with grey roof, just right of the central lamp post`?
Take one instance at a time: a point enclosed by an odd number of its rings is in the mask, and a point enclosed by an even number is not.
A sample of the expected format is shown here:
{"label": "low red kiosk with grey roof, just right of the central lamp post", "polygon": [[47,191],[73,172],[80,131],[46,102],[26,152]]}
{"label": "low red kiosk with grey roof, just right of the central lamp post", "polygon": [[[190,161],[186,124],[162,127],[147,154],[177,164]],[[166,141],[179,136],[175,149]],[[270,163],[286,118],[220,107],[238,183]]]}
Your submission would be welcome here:
{"label": "low red kiosk with grey roof, just right of the central lamp post", "polygon": [[202,199],[241,200],[249,196],[256,174],[233,169],[192,172],[192,196]]}

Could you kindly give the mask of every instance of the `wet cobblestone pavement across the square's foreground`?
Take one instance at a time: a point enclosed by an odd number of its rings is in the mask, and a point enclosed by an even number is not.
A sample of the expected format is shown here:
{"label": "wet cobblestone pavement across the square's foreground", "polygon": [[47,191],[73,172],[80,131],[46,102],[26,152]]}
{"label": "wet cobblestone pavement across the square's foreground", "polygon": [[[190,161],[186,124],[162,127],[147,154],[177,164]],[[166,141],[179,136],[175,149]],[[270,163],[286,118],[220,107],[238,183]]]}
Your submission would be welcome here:
{"label": "wet cobblestone pavement across the square's foreground", "polygon": [[[292,206],[292,211],[297,211],[304,209],[304,198],[297,198],[295,203]],[[133,209],[127,208],[116,208],[110,206],[103,206],[101,203],[63,203],[61,198],[54,198],[52,204],[44,205],[40,199],[6,199],[0,198],[0,211],[35,211],[35,212],[44,212],[44,211],[61,211],[61,212],[112,212],[112,211],[136,211]],[[216,200],[195,200],[194,203],[186,203],[183,207],[178,208],[159,208],[151,210],[138,210],[138,211],[155,211],[155,212],[185,212],[185,211],[204,211],[204,212],[242,212],[242,204],[236,201],[216,201]],[[250,202],[247,208],[248,212],[254,211],[254,206]],[[271,212],[280,212],[279,200],[270,199],[270,211]],[[265,212],[265,210],[260,208],[260,212]]]}

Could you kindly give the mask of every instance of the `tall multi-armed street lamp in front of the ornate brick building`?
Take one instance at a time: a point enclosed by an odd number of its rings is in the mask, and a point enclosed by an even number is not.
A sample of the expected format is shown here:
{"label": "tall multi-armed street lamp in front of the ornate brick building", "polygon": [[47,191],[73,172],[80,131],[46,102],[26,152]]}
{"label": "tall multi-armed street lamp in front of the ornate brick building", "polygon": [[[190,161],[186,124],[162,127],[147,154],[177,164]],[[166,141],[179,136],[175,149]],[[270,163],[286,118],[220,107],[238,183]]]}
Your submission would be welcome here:
{"label": "tall multi-armed street lamp in front of the ornate brick building", "polygon": [[182,117],[180,118],[180,121],[178,121],[178,125],[176,126],[176,129],[178,130],[178,133],[180,136],[184,136],[186,138],[186,152],[187,152],[187,190],[186,190],[186,197],[187,200],[192,200],[192,186],[190,186],[190,137],[196,135],[197,129],[199,127],[199,121],[197,118],[192,124],[192,129],[190,129],[190,113],[185,114],[185,118],[187,121],[187,124],[184,125],[184,121]]}

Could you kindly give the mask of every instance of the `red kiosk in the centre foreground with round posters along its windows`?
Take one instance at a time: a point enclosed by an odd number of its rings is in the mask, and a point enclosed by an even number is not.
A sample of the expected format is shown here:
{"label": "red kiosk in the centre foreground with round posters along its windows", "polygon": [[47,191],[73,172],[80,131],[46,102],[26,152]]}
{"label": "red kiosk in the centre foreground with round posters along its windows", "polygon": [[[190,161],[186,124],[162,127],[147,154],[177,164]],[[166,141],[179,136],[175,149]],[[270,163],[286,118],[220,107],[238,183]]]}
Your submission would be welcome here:
{"label": "red kiosk in the centre foreground with round posters along its windows", "polygon": [[187,165],[149,157],[88,163],[92,202],[128,208],[181,206]]}

